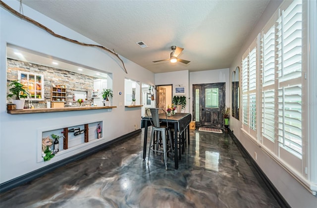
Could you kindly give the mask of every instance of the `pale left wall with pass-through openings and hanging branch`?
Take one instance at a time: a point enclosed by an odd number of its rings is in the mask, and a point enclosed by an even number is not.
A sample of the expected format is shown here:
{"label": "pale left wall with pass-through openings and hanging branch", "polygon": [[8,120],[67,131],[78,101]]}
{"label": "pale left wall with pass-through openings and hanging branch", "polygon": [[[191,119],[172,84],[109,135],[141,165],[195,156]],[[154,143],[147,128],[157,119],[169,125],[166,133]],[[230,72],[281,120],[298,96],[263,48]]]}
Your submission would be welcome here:
{"label": "pale left wall with pass-through openings and hanging branch", "polygon": [[[19,1],[4,0],[6,4],[19,11]],[[88,38],[66,28],[52,19],[23,5],[24,15],[49,27],[55,33],[88,44],[96,44]],[[6,112],[6,44],[10,43],[36,52],[52,55],[84,66],[112,73],[112,110],[84,110],[11,115]],[[106,46],[105,46],[106,47]],[[121,57],[121,56],[120,56]],[[128,77],[155,85],[154,73],[121,57],[126,65]],[[0,8],[0,183],[45,167],[58,160],[78,154],[89,148],[134,131],[140,124],[141,108],[127,110],[124,103],[124,78],[119,60],[108,52],[96,48],[79,46],[58,39],[46,31],[17,18]],[[108,83],[111,84],[111,83]],[[122,95],[118,95],[121,91]],[[130,119],[125,119],[129,117]],[[59,129],[77,125],[81,121],[103,121],[103,139],[80,147],[67,154],[56,155],[50,161],[37,162],[38,146],[42,143],[43,129]],[[124,121],[124,122],[122,122]]]}

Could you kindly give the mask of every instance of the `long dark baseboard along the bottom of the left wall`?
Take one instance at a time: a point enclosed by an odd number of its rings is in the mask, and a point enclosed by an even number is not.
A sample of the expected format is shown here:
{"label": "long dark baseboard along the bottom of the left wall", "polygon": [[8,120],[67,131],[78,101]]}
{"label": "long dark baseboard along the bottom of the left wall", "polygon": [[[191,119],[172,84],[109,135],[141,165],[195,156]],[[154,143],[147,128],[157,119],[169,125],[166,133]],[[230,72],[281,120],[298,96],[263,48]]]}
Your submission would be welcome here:
{"label": "long dark baseboard along the bottom of the left wall", "polygon": [[54,162],[50,165],[47,165],[45,167],[42,167],[42,168],[39,168],[37,170],[34,170],[32,172],[29,172],[25,175],[22,175],[22,176],[19,176],[17,178],[14,178],[12,180],[9,180],[9,181],[6,181],[4,183],[1,183],[0,184],[0,193],[3,193],[3,192],[6,192],[6,191],[9,191],[17,186],[20,186],[22,184],[25,184],[27,182],[30,182],[42,175],[45,175],[46,173],[49,173],[51,171],[53,171],[54,169],[58,168],[58,167],[61,167],[61,166],[64,166],[70,162],[74,162],[76,160],[79,160],[79,159],[82,159],[82,158],[85,158],[87,156],[90,156],[94,153],[97,153],[107,147],[109,147],[110,145],[114,144],[114,143],[117,143],[117,142],[120,142],[120,141],[123,141],[125,139],[128,139],[129,137],[132,137],[136,134],[139,134],[141,132],[141,129],[138,129],[138,130],[135,130],[133,132],[130,132],[128,134],[125,134],[123,136],[120,136],[116,139],[113,139],[109,142],[106,142],[104,144],[101,144],[97,147],[94,147],[94,148],[91,148],[89,150],[86,150],[82,153],[79,153],[77,155],[74,155],[74,156],[70,156],[70,157],[67,157],[65,159],[62,159],[60,161],[57,161],[57,162]]}

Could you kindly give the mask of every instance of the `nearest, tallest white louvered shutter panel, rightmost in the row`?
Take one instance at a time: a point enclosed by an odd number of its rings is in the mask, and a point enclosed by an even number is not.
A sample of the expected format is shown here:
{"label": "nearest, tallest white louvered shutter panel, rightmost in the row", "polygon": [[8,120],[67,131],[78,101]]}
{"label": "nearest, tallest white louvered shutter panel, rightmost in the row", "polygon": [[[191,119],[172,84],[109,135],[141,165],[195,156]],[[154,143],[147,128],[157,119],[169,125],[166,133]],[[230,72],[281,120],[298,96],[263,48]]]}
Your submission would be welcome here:
{"label": "nearest, tallest white louvered shutter panel, rightmost in the row", "polygon": [[278,142],[302,156],[302,2],[282,10],[277,24]]}

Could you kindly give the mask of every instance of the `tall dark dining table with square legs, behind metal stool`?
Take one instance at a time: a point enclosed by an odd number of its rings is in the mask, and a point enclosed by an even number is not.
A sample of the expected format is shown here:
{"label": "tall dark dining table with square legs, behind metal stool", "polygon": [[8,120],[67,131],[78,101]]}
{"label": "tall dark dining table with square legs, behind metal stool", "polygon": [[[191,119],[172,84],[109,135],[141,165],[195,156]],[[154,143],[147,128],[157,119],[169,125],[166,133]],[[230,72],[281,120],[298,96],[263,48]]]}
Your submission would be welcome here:
{"label": "tall dark dining table with square legs, behind metal stool", "polygon": [[[147,138],[148,138],[148,126],[151,126],[150,122],[151,116],[144,116],[141,119],[141,128],[144,129],[144,142],[143,142],[143,159],[146,158],[147,153]],[[178,158],[181,156],[181,150],[178,150],[178,143],[181,144],[184,142],[184,134],[185,130],[187,130],[187,141],[189,144],[189,124],[192,120],[192,115],[190,113],[175,113],[174,115],[167,116],[165,113],[159,114],[159,121],[160,122],[168,122],[168,125],[173,125],[174,127],[174,161],[175,161],[175,169],[178,169]],[[181,137],[178,137],[178,134],[181,135]],[[179,141],[178,141],[179,139]],[[184,145],[184,144],[183,144]],[[179,153],[178,153],[179,151]]]}

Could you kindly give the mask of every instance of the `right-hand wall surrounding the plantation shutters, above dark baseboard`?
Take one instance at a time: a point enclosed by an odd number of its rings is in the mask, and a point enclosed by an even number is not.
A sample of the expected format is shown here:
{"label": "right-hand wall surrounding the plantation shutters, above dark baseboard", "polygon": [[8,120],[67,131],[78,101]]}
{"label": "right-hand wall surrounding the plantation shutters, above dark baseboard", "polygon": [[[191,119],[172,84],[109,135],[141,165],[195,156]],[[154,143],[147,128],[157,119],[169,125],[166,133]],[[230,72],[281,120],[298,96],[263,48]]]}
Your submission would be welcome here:
{"label": "right-hand wall surrounding the plantation shutters, above dark baseboard", "polygon": [[[229,74],[236,69],[237,66],[241,67],[241,59],[243,53],[247,50],[250,44],[255,40],[258,33],[264,28],[268,19],[272,16],[275,10],[278,8],[282,1],[273,0],[270,1],[266,7],[264,13],[262,14],[259,22],[254,27],[252,33],[247,38],[246,42],[241,47],[239,53],[236,55],[235,60],[230,66]],[[312,69],[311,69],[312,70]],[[241,71],[240,71],[241,73]],[[241,81],[241,80],[240,80]],[[241,86],[241,83],[240,83]],[[231,77],[230,77],[230,89],[231,89]],[[231,90],[230,90],[231,91]],[[240,92],[241,93],[241,92]],[[241,95],[240,95],[241,98]],[[231,104],[231,92],[229,96],[229,103]],[[241,101],[241,99],[240,99]],[[241,102],[240,102],[241,108]],[[241,111],[240,111],[241,112]],[[257,153],[256,162],[264,171],[269,180],[274,184],[277,190],[293,208],[316,208],[317,207],[317,198],[313,196],[307,189],[305,189],[297,180],[295,180],[284,168],[282,168],[275,160],[268,156],[262,148],[255,144],[251,139],[244,136],[240,128],[241,123],[241,114],[240,120],[237,120],[233,117],[230,117],[230,129],[234,130],[234,135],[239,139],[245,149],[249,152],[251,156],[254,156],[254,152]],[[315,136],[316,138],[316,136]]]}

